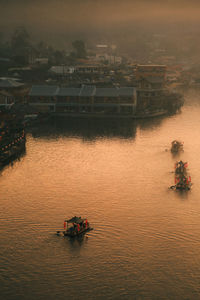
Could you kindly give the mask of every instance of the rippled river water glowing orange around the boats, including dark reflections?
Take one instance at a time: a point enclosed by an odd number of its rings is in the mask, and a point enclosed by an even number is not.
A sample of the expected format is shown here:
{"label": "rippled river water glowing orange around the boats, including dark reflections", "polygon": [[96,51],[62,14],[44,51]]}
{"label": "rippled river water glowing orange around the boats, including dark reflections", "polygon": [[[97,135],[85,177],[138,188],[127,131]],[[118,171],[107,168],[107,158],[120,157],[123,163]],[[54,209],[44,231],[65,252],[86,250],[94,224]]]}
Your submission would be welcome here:
{"label": "rippled river water glowing orange around the boats, including dark reflections", "polygon": [[[185,98],[173,116],[27,134],[25,155],[0,173],[2,299],[200,299],[200,92]],[[168,189],[180,159],[189,192]],[[57,236],[74,215],[94,230]]]}

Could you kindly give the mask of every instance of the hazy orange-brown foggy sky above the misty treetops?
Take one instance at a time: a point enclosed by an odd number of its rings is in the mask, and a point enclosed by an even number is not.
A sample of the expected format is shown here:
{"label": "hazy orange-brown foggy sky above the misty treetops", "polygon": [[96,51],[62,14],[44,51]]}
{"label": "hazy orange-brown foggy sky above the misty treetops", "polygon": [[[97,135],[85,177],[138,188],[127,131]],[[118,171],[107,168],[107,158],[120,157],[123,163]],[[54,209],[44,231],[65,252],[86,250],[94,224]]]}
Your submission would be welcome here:
{"label": "hazy orange-brown foggy sky above the misty treetops", "polygon": [[[35,37],[125,34],[140,26],[199,23],[199,0],[0,0],[0,31],[25,26]],[[157,26],[157,27],[156,27]]]}

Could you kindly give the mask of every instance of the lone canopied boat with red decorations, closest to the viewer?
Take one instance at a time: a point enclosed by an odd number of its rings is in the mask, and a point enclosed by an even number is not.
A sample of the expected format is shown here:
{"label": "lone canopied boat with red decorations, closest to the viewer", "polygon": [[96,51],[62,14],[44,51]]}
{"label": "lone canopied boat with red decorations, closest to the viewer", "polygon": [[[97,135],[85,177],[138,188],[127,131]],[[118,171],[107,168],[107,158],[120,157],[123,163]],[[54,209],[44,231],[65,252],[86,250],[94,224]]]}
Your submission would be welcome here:
{"label": "lone canopied boat with red decorations, closest to the viewer", "polygon": [[90,227],[90,224],[87,219],[81,217],[73,217],[69,220],[64,221],[64,236],[76,237],[80,236],[93,228]]}

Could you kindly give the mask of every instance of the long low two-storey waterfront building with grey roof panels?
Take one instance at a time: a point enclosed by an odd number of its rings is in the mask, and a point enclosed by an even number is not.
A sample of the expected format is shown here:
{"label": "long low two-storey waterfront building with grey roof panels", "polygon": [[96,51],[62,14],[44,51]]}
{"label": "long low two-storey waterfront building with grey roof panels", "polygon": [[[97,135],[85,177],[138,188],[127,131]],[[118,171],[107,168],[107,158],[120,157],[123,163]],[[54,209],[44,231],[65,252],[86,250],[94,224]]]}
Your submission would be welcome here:
{"label": "long low two-storey waterfront building with grey roof panels", "polygon": [[54,115],[135,115],[137,93],[134,87],[32,86],[28,102],[38,111],[51,112]]}

